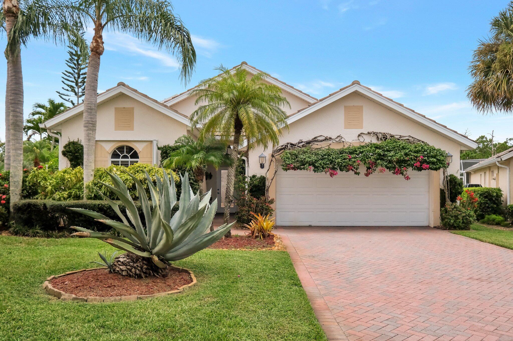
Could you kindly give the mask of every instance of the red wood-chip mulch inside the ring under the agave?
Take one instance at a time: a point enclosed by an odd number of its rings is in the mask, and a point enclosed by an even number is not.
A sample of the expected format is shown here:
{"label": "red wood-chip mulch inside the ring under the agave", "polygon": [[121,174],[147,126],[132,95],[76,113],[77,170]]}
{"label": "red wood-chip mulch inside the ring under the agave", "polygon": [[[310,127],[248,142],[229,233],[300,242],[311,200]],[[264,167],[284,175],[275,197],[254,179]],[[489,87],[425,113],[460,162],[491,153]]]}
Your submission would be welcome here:
{"label": "red wood-chip mulch inside the ring under the agave", "polygon": [[192,279],[187,272],[174,269],[169,269],[167,274],[161,277],[134,279],[111,274],[105,268],[75,272],[50,281],[55,289],[80,297],[149,295],[175,290],[191,282]]}

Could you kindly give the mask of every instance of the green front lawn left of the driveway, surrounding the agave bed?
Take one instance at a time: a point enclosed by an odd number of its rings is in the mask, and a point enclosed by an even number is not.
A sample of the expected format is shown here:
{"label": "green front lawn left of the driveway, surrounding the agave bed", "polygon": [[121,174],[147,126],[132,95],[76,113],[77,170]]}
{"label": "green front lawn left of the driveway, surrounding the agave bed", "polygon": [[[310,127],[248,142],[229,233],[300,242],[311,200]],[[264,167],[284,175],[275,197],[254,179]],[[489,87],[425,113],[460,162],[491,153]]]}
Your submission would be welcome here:
{"label": "green front lawn left of the driveway, surrounding the agave bed", "polygon": [[106,246],[0,236],[0,339],[326,340],[286,252],[201,251],[175,262],[198,285],[149,300],[63,302],[43,291],[47,277],[91,267]]}

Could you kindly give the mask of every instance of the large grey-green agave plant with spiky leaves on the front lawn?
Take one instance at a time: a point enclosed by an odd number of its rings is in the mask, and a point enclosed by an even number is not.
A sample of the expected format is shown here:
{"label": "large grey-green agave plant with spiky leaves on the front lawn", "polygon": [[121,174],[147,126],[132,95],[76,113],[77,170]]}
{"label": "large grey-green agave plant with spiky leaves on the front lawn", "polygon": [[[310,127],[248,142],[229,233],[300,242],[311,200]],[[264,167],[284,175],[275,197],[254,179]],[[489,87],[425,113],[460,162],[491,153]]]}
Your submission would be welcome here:
{"label": "large grey-green agave plant with spiky leaves on the front lawn", "polygon": [[[126,207],[126,217],[119,206],[100,193],[120,217],[121,221],[112,220],[100,213],[70,208],[101,221],[125,238],[108,233],[95,232],[82,227],[72,226],[78,232],[75,236],[102,239],[110,245],[126,251],[117,256],[112,263],[112,271],[130,277],[159,276],[164,272],[169,261],[180,260],[191,256],[201,249],[221,239],[231,228],[224,224],[219,229],[205,233],[214,218],[217,200],[209,205],[210,192],[203,197],[194,195],[190,188],[187,173],[182,177],[182,195],[179,210],[171,217],[171,209],[176,204],[176,191],[173,177],[156,177],[157,188],[146,173],[151,195],[151,207],[141,181],[129,174],[135,181],[139,200],[144,213],[141,221],[137,208],[128,193],[127,186],[121,178],[109,173],[114,186],[102,183],[114,192]],[[128,219],[127,219],[128,217]]]}

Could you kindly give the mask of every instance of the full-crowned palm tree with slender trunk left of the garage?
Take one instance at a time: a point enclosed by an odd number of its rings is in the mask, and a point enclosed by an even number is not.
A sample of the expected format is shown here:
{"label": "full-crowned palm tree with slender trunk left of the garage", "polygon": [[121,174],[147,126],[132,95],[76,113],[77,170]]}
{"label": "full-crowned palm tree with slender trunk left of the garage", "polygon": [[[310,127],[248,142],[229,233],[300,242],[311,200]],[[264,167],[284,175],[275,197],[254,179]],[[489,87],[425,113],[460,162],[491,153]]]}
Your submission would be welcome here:
{"label": "full-crowned palm tree with slender trunk left of the garage", "polygon": [[[193,90],[193,94],[198,96],[195,104],[206,104],[192,113],[191,126],[202,126],[200,138],[219,135],[222,141],[233,143],[224,199],[224,221],[227,223],[233,201],[235,169],[240,160],[241,138],[246,140],[248,149],[253,146],[267,149],[269,142],[276,146],[282,128],[288,128],[282,106],[290,108],[290,103],[282,95],[280,87],[265,82],[269,75],[264,72],[250,77],[242,67],[230,71],[221,65],[215,70],[221,74],[202,81]],[[231,232],[228,231],[226,236],[231,237]]]}

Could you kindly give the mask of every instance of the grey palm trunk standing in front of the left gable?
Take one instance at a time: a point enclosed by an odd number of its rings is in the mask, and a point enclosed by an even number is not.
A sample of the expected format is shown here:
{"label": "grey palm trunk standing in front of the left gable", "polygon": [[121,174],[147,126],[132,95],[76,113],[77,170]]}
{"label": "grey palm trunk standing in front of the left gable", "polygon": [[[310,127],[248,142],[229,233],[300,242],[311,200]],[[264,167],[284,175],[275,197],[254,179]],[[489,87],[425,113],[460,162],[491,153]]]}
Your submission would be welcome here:
{"label": "grey palm trunk standing in front of the left gable", "polygon": [[86,74],[84,96],[84,198],[87,198],[86,184],[93,179],[94,148],[96,144],[96,99],[98,93],[98,72],[100,72],[100,57],[104,52],[102,24],[96,23],[94,36],[91,40],[91,54]]}

